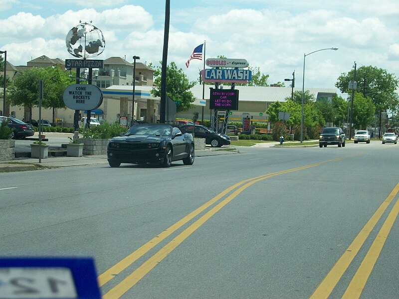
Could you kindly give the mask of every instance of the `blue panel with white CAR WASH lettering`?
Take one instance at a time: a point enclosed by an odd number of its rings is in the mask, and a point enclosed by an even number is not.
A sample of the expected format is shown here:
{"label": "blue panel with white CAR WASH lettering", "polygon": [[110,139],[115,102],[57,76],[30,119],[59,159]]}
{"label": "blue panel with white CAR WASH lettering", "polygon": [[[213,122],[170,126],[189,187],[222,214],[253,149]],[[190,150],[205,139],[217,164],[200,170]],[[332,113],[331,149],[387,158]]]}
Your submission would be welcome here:
{"label": "blue panel with white CAR WASH lettering", "polygon": [[204,69],[201,75],[204,82],[247,83],[252,80],[251,70],[244,69]]}

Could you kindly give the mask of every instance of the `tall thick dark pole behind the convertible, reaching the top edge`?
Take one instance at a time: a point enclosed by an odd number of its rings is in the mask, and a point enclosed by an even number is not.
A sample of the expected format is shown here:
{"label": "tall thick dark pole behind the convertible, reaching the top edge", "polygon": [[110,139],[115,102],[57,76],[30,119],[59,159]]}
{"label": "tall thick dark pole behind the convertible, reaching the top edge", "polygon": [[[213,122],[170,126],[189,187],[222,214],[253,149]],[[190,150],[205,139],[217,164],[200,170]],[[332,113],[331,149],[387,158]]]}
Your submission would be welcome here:
{"label": "tall thick dark pole behind the convertible, reaching the top edge", "polygon": [[169,42],[169,19],[171,14],[171,1],[166,0],[165,5],[165,29],[164,29],[164,51],[162,55],[161,71],[161,105],[160,105],[160,124],[165,124],[166,112],[166,74],[168,67],[168,42]]}

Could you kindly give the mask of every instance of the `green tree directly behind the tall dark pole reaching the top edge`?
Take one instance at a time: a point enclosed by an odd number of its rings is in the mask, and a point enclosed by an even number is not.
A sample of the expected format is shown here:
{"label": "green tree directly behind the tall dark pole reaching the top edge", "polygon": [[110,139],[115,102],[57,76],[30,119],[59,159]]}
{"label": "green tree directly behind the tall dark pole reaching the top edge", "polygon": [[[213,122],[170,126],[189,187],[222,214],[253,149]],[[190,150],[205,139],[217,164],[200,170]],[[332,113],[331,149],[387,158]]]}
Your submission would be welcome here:
{"label": "green tree directly behind the tall dark pole reaching the top edge", "polygon": [[[160,65],[162,62],[160,61]],[[161,97],[161,72],[162,67],[154,67],[151,63],[150,67],[154,68],[154,87],[151,93],[155,97]],[[166,71],[166,94],[176,103],[177,112],[187,111],[191,108],[195,101],[195,97],[190,89],[196,85],[195,81],[189,81],[182,69],[178,69],[175,62],[168,65]]]}

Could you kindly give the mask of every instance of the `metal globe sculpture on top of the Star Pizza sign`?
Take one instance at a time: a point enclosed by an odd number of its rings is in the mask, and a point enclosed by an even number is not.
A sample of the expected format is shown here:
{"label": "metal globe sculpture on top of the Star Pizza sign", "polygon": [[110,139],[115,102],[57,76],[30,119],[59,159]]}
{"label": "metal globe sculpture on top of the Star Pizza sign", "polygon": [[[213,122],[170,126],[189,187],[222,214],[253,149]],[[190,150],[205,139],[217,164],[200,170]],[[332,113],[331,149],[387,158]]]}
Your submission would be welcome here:
{"label": "metal globe sculpture on top of the Star Pizza sign", "polygon": [[69,30],[65,41],[68,52],[78,58],[96,57],[105,49],[105,39],[101,30],[86,22],[81,22]]}

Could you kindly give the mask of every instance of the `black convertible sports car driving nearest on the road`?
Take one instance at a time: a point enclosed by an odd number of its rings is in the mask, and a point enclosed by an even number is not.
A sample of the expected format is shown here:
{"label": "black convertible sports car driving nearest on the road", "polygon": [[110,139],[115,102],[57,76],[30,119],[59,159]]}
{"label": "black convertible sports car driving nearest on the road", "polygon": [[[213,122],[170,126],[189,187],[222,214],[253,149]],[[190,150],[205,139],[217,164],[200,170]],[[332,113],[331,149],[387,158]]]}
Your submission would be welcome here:
{"label": "black convertible sports car driving nearest on the road", "polygon": [[121,163],[159,163],[169,167],[176,160],[191,165],[194,163],[194,139],[173,125],[135,125],[124,136],[109,141],[107,157],[111,167],[119,167]]}

